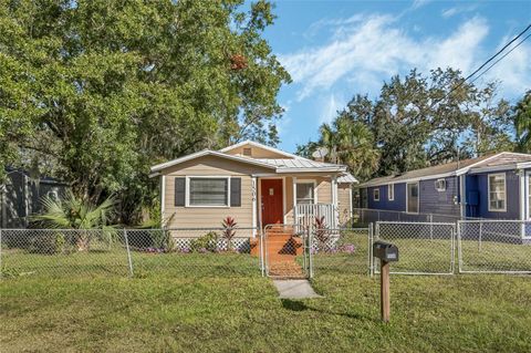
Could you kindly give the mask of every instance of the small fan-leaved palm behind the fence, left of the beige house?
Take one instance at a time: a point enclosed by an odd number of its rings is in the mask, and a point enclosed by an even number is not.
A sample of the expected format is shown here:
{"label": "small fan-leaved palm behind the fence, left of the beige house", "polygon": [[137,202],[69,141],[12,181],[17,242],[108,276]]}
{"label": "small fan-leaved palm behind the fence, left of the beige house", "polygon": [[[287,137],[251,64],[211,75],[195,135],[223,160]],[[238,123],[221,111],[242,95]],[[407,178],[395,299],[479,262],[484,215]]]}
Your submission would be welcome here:
{"label": "small fan-leaved palm behind the fence, left of the beige house", "polygon": [[[44,227],[54,229],[82,229],[82,230],[113,230],[110,226],[114,215],[114,198],[110,197],[98,206],[77,198],[72,191],[67,191],[63,199],[45,197],[42,199],[44,211],[32,217],[43,224]],[[75,232],[75,242],[79,250],[88,250],[90,231]]]}

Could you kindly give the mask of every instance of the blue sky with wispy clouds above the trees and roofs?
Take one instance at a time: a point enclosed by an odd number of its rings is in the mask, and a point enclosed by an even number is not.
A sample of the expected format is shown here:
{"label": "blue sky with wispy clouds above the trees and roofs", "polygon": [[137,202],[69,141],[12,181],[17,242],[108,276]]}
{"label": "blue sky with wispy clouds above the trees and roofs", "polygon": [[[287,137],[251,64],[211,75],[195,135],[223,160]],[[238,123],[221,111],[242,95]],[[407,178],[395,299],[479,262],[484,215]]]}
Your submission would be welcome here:
{"label": "blue sky with wispy clouds above the trees and roofs", "polygon": [[[531,23],[531,0],[277,1],[274,13],[264,37],[293,79],[279,94],[279,147],[293,152],[354,94],[374,97],[394,74],[471,73]],[[476,83],[491,80],[510,101],[531,89],[531,38]]]}

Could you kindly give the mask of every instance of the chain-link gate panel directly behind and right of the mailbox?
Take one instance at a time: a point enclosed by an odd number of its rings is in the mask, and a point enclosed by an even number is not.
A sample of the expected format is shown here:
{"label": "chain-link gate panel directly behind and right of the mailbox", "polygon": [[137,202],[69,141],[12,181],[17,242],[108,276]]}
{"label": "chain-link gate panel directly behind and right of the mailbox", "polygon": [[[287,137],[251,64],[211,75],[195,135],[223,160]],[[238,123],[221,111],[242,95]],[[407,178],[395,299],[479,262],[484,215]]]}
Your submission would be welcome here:
{"label": "chain-link gate panel directly behind and right of the mailbox", "polygon": [[[374,240],[398,247],[399,259],[391,263],[392,273],[452,274],[455,229],[456,224],[379,221],[375,226]],[[376,260],[373,261],[376,273]]]}

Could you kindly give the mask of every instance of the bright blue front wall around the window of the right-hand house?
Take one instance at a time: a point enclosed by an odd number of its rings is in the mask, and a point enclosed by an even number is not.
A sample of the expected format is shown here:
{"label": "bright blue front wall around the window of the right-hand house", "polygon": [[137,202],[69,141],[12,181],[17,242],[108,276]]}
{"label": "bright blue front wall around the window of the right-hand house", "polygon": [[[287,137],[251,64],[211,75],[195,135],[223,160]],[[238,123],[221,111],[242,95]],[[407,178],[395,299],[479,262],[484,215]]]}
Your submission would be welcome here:
{"label": "bright blue front wall around the window of the right-hand house", "polygon": [[[507,211],[489,211],[488,176],[506,174]],[[478,193],[479,205],[467,206],[467,216],[490,219],[520,219],[520,177],[516,170],[481,173],[467,176],[467,197],[470,191]],[[468,198],[467,198],[468,200]]]}

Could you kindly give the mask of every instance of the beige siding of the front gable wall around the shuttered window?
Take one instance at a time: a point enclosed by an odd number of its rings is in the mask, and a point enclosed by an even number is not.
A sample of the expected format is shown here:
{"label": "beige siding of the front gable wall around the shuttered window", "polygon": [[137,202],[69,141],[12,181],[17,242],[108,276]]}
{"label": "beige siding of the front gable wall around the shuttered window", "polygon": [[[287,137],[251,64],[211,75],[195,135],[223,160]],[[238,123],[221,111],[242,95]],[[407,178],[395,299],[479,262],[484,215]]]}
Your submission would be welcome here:
{"label": "beige siding of the front gable wall around the shuttered window", "polygon": [[[227,216],[235,217],[239,227],[252,227],[251,174],[269,169],[206,156],[164,170],[166,176],[164,218],[171,217],[169,227],[219,227]],[[176,207],[175,177],[177,176],[237,176],[241,177],[241,207]]]}

